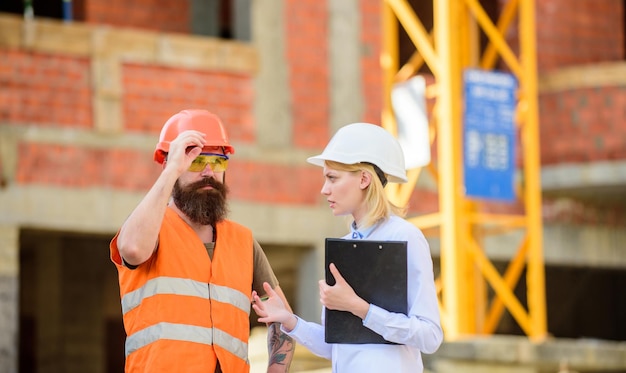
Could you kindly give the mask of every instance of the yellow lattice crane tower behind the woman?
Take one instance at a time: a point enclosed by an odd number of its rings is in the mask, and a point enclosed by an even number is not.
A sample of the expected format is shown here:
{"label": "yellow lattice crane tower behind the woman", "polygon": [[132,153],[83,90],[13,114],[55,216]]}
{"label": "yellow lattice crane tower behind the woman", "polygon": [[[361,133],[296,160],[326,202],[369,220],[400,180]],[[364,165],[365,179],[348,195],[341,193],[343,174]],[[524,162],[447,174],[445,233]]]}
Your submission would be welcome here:
{"label": "yellow lattice crane tower behind the woman", "polygon": [[[437,181],[439,211],[409,217],[422,229],[436,228],[440,240],[439,291],[442,324],[448,340],[493,334],[505,307],[523,332],[533,339],[547,336],[543,227],[538,130],[538,87],[535,45],[535,1],[509,0],[493,22],[478,0],[433,0],[433,28],[428,32],[407,0],[383,0],[383,68],[385,104],[382,125],[397,133],[391,94],[394,85],[415,76],[426,64],[434,83],[426,89],[433,99],[430,141],[437,157],[425,167],[409,170],[409,183],[390,188],[389,196],[406,204],[423,170]],[[505,32],[518,25],[518,55]],[[403,27],[415,53],[399,66],[398,35]],[[482,51],[479,30],[488,38]],[[489,213],[483,202],[463,188],[463,71],[493,70],[501,59],[519,82],[515,125],[521,166],[516,185],[522,213]],[[485,235],[522,231],[515,254],[500,273],[484,250]],[[526,269],[527,304],[514,289]],[[488,299],[486,285],[493,290]]]}

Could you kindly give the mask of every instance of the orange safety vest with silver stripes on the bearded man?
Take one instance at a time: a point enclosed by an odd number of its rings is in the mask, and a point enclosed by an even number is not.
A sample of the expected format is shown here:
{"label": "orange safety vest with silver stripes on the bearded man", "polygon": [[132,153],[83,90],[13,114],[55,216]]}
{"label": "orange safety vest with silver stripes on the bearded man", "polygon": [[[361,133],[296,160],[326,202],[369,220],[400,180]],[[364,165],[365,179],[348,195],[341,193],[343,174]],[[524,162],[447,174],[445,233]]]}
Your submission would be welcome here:
{"label": "orange safety vest with silver stripes on the bearded man", "polygon": [[196,233],[167,209],[159,247],[136,269],[123,266],[117,235],[111,260],[120,283],[126,372],[249,372],[253,238],[217,224],[213,260]]}

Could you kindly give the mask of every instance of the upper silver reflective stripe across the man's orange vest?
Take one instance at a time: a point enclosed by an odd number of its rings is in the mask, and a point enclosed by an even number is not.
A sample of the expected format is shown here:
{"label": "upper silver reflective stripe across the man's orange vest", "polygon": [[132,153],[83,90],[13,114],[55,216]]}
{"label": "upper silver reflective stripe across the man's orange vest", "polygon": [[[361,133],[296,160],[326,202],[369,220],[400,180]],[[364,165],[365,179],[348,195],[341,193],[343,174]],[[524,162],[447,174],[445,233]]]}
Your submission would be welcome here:
{"label": "upper silver reflective stripe across the man's orange vest", "polygon": [[[209,288],[211,291],[209,291]],[[137,290],[122,297],[122,314],[126,314],[148,297],[158,294],[175,294],[195,296],[203,299],[214,299],[222,303],[230,303],[250,315],[250,299],[247,295],[226,286],[207,284],[184,278],[157,277],[146,282]]]}

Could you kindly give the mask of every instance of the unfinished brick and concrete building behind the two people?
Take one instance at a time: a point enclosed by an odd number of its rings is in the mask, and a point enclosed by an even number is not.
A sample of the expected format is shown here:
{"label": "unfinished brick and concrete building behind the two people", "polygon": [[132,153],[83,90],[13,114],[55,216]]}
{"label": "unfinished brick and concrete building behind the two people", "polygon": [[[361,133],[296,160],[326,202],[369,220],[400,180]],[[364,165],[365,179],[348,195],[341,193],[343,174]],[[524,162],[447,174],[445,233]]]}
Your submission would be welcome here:
{"label": "unfinished brick and concrete building behind the two people", "polygon": [[[0,373],[122,371],[108,243],[159,174],[162,124],[189,107],[224,120],[230,217],[253,230],[295,311],[319,320],[323,238],[346,226],[305,159],[346,123],[381,123],[385,2],[81,0],[71,14],[66,3],[35,2],[32,17],[20,0],[0,4]],[[509,2],[479,3],[497,16]],[[408,4],[432,26],[431,6]],[[534,5],[548,337],[529,339],[505,311],[495,333],[424,356],[431,372],[626,372],[625,1]],[[402,61],[412,48],[401,33]],[[420,178],[409,217],[438,196]],[[499,271],[517,241],[485,243]],[[514,289],[522,302],[526,290]],[[329,366],[299,346],[292,371]]]}

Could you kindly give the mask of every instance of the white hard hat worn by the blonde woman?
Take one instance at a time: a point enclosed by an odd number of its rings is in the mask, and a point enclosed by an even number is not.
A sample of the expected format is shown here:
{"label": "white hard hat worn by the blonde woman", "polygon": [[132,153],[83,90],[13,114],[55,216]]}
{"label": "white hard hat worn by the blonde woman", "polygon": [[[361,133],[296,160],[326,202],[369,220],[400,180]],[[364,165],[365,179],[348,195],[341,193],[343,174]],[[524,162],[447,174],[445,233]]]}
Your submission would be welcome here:
{"label": "white hard hat worn by the blonde woman", "polygon": [[341,127],[322,154],[307,159],[307,162],[322,167],[324,161],[372,163],[387,174],[390,182],[407,182],[400,143],[391,133],[375,124],[352,123]]}

